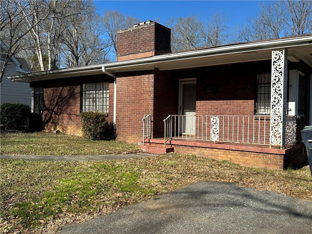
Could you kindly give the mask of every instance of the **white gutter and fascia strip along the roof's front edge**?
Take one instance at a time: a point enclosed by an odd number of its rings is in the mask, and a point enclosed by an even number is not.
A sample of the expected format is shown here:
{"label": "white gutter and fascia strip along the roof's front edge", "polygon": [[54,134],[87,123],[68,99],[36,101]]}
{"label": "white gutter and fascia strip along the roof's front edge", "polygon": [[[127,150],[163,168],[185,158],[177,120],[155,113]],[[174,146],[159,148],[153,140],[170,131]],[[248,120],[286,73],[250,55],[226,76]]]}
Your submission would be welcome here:
{"label": "white gutter and fascia strip along the roof's front edge", "polygon": [[[184,51],[184,52],[177,52],[172,54],[163,54],[157,55],[147,58],[139,58],[134,60],[126,60],[126,61],[119,61],[119,62],[112,62],[112,63],[105,63],[105,64],[97,64],[97,65],[90,65],[90,66],[83,66],[83,67],[74,67],[74,68],[66,68],[62,70],[56,71],[47,71],[47,72],[40,72],[37,74],[32,75],[23,75],[23,76],[10,76],[9,79],[11,80],[19,80],[22,81],[29,76],[37,76],[37,80],[46,80],[47,75],[49,74],[64,74],[64,73],[71,73],[75,71],[85,72],[86,74],[90,69],[102,69],[105,67],[105,70],[110,70],[111,72],[118,72],[119,68],[124,67],[133,67],[135,71],[135,66],[137,65],[149,65],[153,63],[159,62],[166,62],[172,60],[184,60],[188,58],[195,58],[195,57],[203,57],[203,56],[215,56],[221,54],[232,54],[232,53],[240,53],[240,52],[250,52],[250,51],[259,51],[259,50],[266,50],[266,49],[277,49],[277,48],[287,48],[293,46],[303,46],[309,45],[312,43],[312,35],[303,36],[303,37],[295,37],[295,38],[284,38],[284,39],[277,39],[277,40],[269,40],[269,41],[258,41],[258,42],[250,42],[250,43],[243,43],[243,44],[234,44],[229,46],[218,46],[213,48],[207,49],[199,49],[193,51]],[[39,76],[45,76],[39,79]],[[60,76],[55,78],[61,78]],[[55,79],[54,78],[54,79]],[[29,81],[26,81],[29,82]]]}

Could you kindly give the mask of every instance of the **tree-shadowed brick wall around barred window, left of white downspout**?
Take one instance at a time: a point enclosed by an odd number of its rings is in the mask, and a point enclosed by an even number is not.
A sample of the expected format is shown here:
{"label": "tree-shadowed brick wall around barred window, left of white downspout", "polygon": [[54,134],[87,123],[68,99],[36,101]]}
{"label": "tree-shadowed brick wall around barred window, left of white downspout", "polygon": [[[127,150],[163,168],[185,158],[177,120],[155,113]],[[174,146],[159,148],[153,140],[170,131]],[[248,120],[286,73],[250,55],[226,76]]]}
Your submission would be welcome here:
{"label": "tree-shadowed brick wall around barred window, left of white downspout", "polygon": [[108,121],[113,121],[114,79],[105,74],[78,76],[31,82],[30,87],[43,87],[42,122],[44,130],[60,130],[63,133],[81,135],[80,85],[109,82]]}

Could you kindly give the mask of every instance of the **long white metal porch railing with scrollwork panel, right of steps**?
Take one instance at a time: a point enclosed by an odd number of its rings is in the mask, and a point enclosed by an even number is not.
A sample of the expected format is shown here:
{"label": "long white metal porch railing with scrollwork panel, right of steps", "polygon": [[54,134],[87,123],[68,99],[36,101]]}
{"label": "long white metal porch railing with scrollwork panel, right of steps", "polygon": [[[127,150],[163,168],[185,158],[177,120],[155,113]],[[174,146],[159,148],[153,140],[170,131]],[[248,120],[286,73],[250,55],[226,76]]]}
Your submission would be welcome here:
{"label": "long white metal porch railing with scrollwork panel, right of steps", "polygon": [[[169,115],[164,121],[165,146],[171,139],[270,144],[270,116]],[[287,116],[287,144],[296,141],[296,118]]]}

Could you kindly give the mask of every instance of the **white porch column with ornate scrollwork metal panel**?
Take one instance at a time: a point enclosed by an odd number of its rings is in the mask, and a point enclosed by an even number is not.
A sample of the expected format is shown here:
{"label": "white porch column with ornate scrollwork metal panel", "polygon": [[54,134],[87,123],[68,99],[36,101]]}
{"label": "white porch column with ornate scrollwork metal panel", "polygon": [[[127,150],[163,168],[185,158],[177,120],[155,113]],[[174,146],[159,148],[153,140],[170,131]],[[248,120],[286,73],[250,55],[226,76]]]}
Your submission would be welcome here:
{"label": "white porch column with ornate scrollwork metal panel", "polygon": [[286,142],[287,49],[272,51],[270,147]]}

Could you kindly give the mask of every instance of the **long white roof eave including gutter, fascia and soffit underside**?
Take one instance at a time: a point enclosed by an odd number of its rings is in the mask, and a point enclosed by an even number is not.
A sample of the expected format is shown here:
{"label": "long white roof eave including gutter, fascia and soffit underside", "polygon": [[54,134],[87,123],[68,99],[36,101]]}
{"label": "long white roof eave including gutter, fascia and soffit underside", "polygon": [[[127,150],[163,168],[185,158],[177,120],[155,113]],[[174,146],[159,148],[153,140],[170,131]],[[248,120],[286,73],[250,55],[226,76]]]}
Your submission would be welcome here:
{"label": "long white roof eave including gutter, fascia and soffit underside", "polygon": [[87,76],[95,74],[109,74],[124,71],[173,70],[189,67],[213,66],[221,64],[239,63],[247,61],[261,61],[271,59],[271,50],[288,48],[290,61],[303,60],[312,67],[312,34],[296,37],[284,37],[262,41],[251,41],[223,46],[199,48],[191,51],[181,51],[147,58],[119,61],[98,65],[44,71],[20,76],[8,77],[14,81],[30,82],[50,80],[73,76]]}

